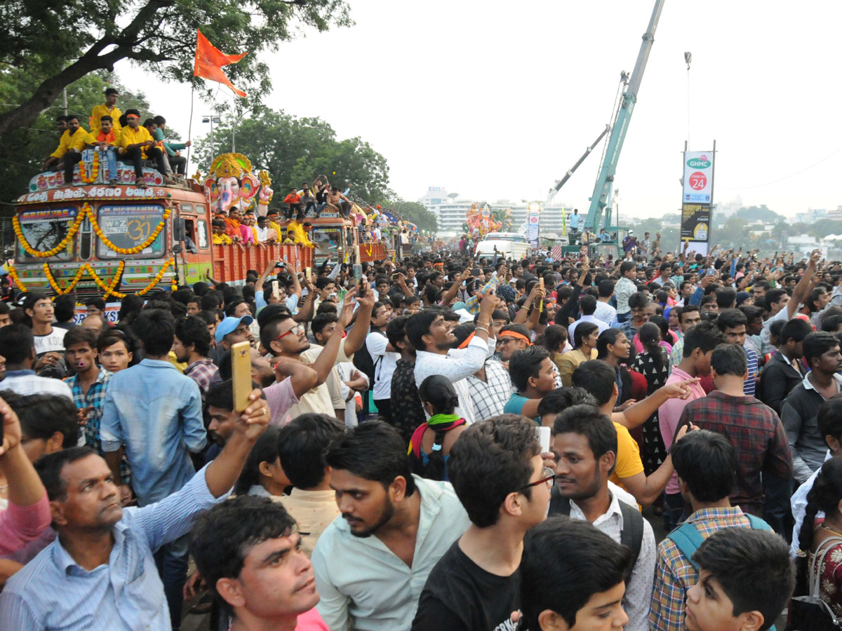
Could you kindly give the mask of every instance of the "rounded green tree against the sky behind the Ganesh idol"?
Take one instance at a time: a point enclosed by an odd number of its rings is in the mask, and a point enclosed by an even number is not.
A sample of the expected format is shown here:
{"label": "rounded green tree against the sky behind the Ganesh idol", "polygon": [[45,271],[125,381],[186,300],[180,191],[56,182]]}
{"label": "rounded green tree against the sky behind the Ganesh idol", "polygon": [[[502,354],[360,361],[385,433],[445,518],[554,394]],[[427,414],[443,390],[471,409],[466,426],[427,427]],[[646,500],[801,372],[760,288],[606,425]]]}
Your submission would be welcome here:
{"label": "rounded green tree against the sky behind the Ganesh idol", "polygon": [[[230,119],[230,117],[226,117]],[[301,188],[324,175],[340,190],[351,188],[350,197],[370,204],[385,204],[391,191],[386,158],[360,138],[339,141],[322,119],[299,119],[282,111],[258,107],[237,122],[237,151],[251,160],[254,170],[265,169],[272,178],[275,204],[290,188]],[[214,156],[231,151],[230,123],[214,129],[196,143],[200,171],[205,175]]]}

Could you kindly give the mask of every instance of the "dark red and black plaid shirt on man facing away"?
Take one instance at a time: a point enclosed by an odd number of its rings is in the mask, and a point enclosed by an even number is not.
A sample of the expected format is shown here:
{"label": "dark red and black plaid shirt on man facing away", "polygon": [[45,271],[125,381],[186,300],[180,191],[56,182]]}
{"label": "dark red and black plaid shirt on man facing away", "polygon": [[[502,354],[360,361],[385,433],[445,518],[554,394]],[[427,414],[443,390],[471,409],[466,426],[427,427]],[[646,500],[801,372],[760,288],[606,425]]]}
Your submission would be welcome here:
{"label": "dark red and black plaid shirt on man facing away", "polygon": [[[714,390],[703,399],[690,401],[678,427],[690,421],[702,429],[722,434],[737,450],[737,489],[731,496],[744,511],[759,510],[762,517],[763,484],[760,473],[780,480],[792,477],[792,455],[781,419],[753,396],[733,396]],[[756,506],[749,506],[756,505]],[[758,508],[759,507],[759,508]],[[749,510],[747,510],[747,508]]]}

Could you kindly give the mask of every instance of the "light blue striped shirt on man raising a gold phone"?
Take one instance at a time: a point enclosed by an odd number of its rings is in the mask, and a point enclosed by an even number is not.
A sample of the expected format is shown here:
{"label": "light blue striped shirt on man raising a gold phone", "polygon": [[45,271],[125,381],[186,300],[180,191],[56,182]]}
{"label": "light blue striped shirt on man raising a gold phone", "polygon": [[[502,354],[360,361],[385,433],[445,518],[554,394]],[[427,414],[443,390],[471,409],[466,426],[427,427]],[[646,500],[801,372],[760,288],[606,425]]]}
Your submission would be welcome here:
{"label": "light blue striped shirt on man raising a gold phone", "polygon": [[205,469],[178,492],[124,508],[111,529],[107,565],[85,570],[56,538],[0,593],[0,628],[15,631],[169,631],[169,610],[152,551],[189,532],[215,502]]}

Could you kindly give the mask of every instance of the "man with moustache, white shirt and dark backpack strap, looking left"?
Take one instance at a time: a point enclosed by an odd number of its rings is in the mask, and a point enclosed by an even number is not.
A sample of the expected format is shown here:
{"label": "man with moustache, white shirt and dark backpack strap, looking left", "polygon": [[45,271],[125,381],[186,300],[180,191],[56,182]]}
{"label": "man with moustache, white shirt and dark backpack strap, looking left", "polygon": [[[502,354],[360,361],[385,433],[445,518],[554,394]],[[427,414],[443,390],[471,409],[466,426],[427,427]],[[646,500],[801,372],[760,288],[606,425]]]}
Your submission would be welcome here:
{"label": "man with moustache, white shirt and dark backpack strap, looking left", "polygon": [[[549,514],[590,522],[632,550],[632,571],[626,576],[623,597],[623,608],[629,617],[625,628],[647,631],[657,552],[655,535],[637,506],[629,506],[608,488],[608,478],[616,465],[616,429],[596,406],[578,405],[556,417],[552,434],[556,485]],[[449,472],[451,466],[449,463]]]}

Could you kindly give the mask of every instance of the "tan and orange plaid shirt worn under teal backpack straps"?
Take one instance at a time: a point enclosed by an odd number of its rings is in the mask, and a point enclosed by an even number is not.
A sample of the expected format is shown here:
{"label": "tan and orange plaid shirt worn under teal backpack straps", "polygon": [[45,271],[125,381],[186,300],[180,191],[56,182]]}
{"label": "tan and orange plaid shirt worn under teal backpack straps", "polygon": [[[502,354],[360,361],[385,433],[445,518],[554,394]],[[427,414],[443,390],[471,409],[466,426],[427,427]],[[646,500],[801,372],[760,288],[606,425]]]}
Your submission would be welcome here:
{"label": "tan and orange plaid shirt worn under teal backpack straps", "polygon": [[[710,537],[720,528],[751,528],[749,518],[738,506],[703,508],[690,515],[687,523],[692,523],[702,538]],[[658,544],[652,610],[649,612],[649,628],[652,631],[684,631],[685,598],[695,581],[696,571],[690,559],[681,554],[672,539],[666,538]]]}

